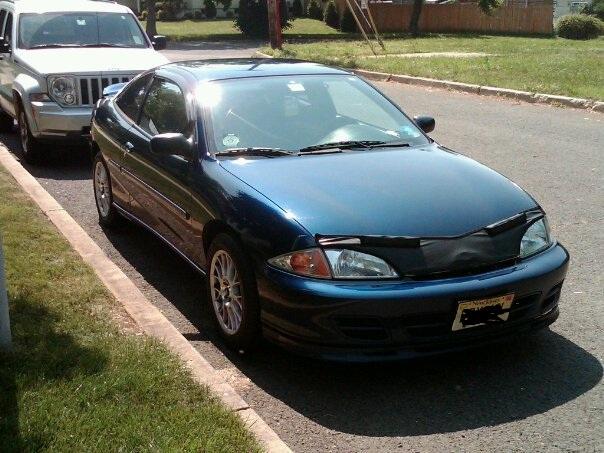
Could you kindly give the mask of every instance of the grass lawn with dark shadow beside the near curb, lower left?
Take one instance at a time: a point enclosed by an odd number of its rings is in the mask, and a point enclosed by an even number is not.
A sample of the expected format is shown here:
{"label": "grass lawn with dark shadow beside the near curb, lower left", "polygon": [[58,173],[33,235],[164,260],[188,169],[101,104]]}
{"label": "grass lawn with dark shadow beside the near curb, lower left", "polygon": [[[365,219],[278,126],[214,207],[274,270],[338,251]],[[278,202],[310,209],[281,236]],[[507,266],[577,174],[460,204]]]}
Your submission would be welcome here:
{"label": "grass lawn with dark shadow beside the near curb, lower left", "polygon": [[120,308],[0,168],[15,348],[0,353],[0,450],[251,452],[240,419]]}

